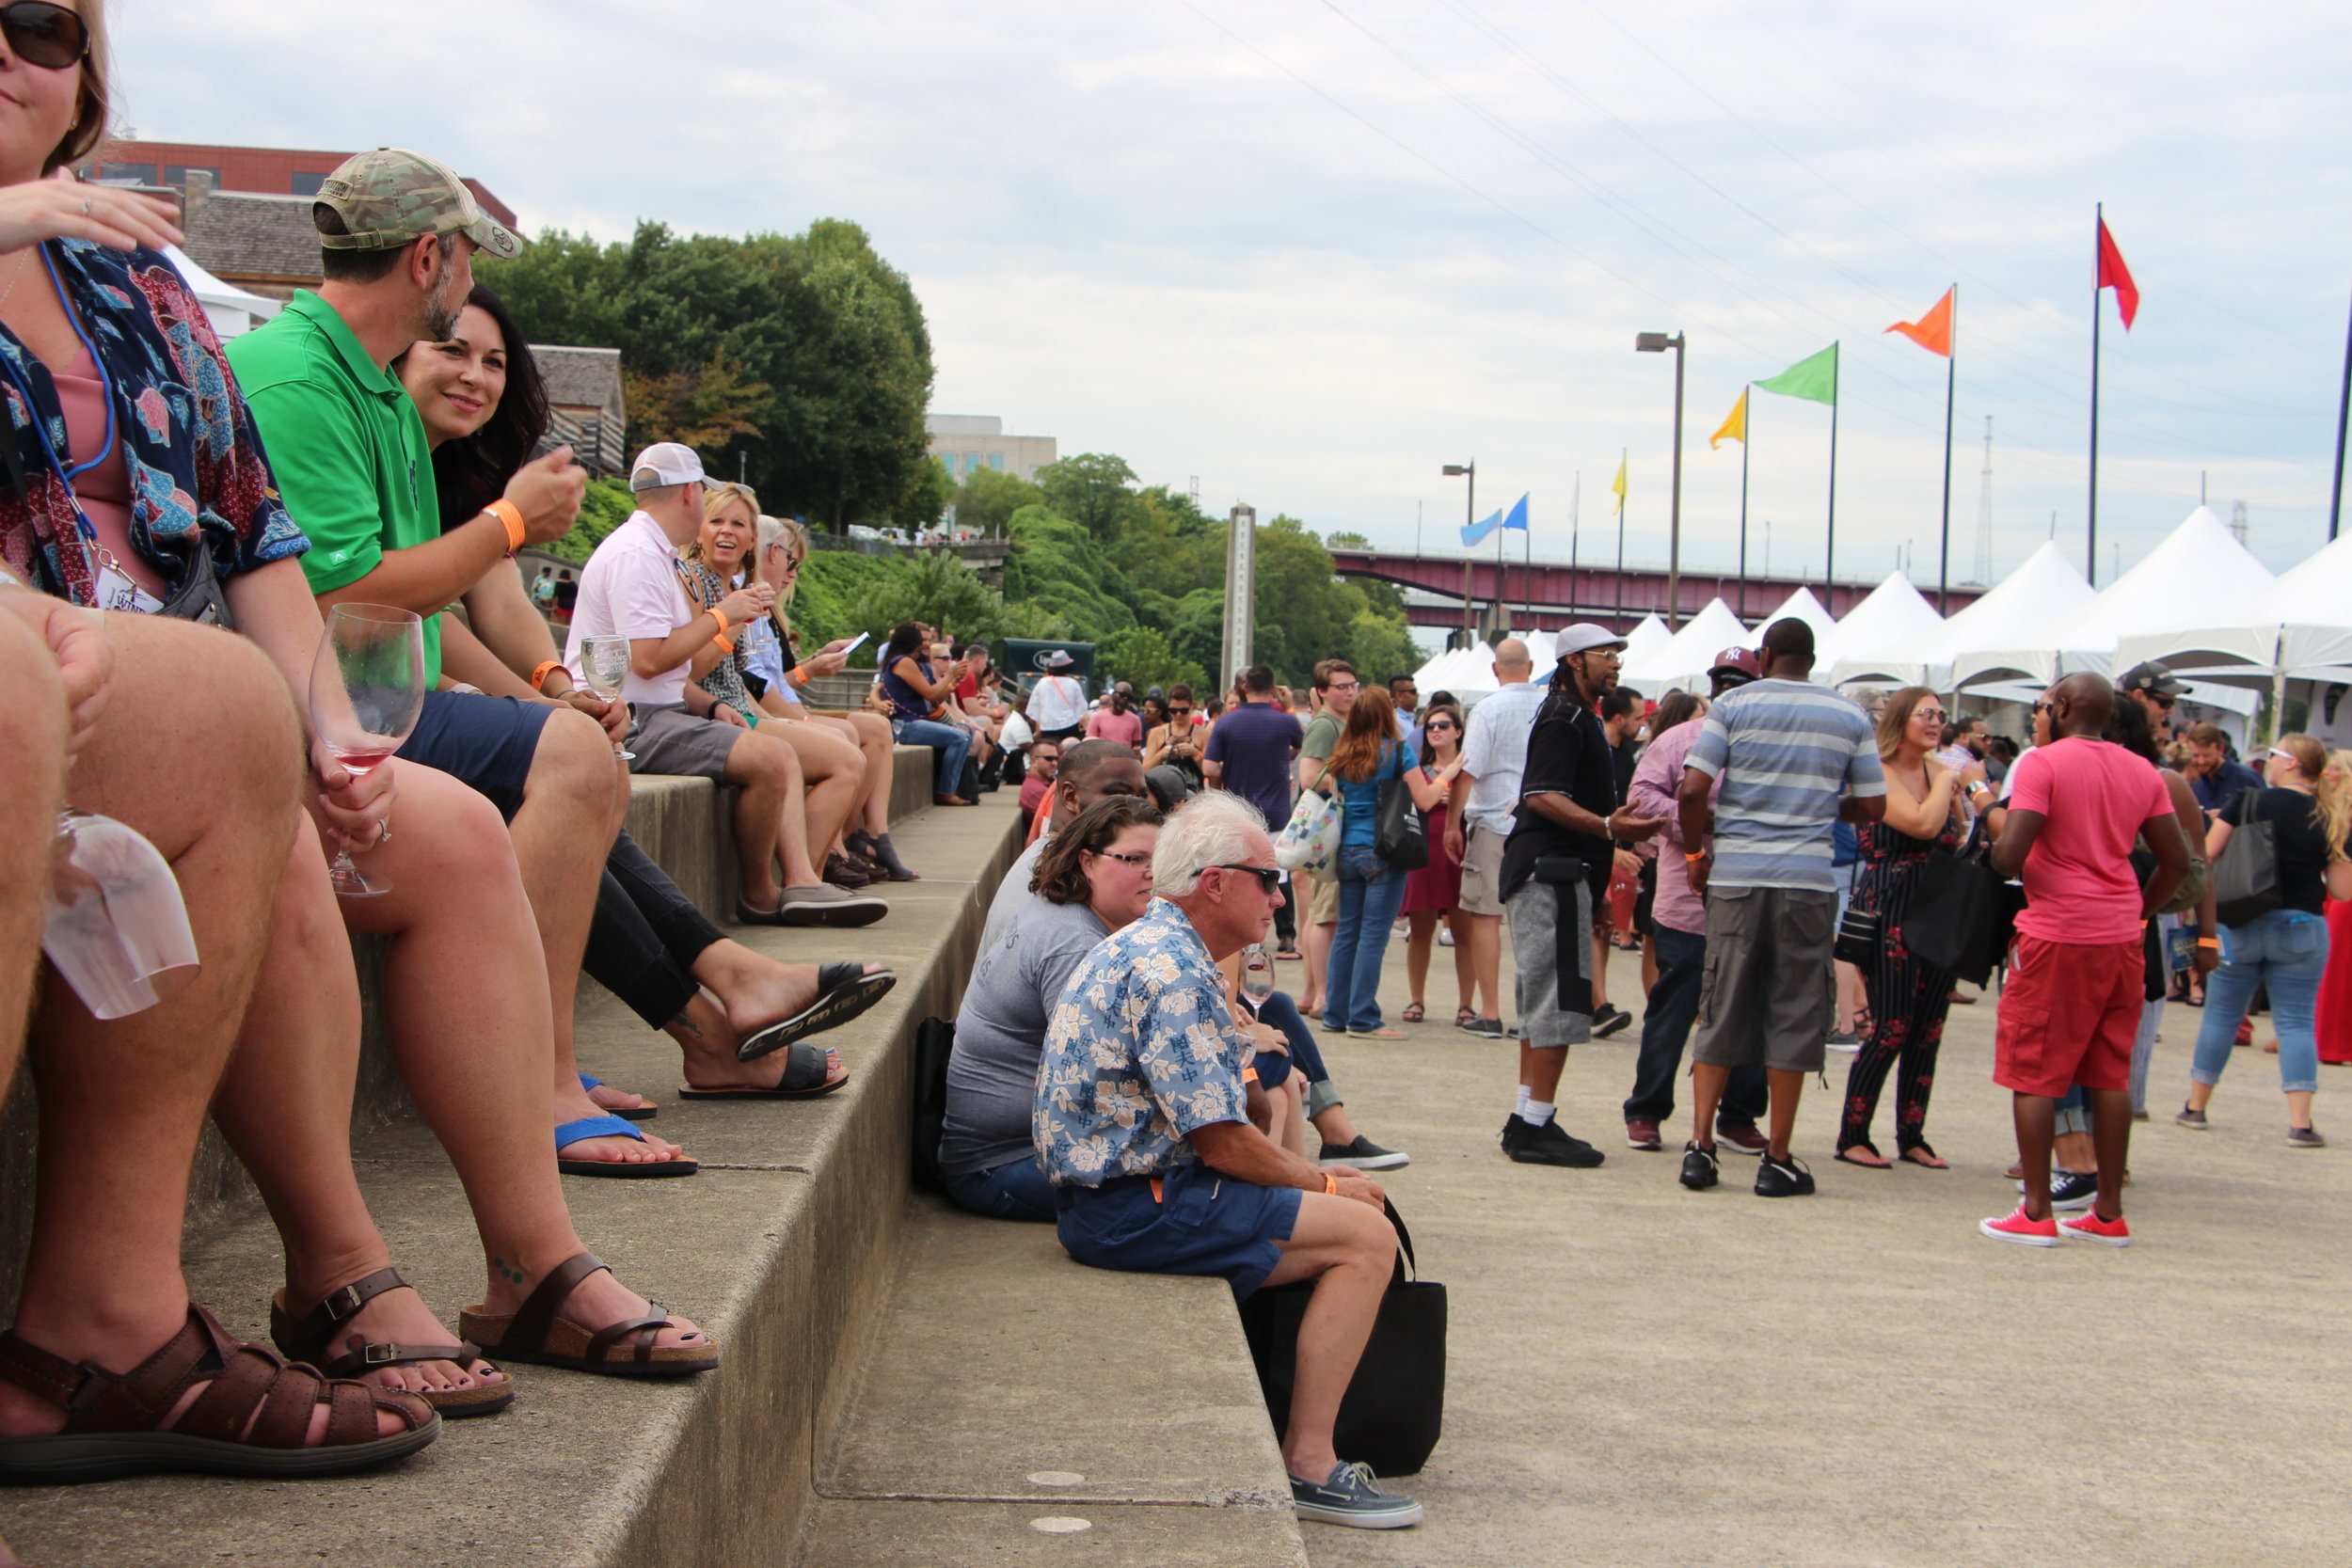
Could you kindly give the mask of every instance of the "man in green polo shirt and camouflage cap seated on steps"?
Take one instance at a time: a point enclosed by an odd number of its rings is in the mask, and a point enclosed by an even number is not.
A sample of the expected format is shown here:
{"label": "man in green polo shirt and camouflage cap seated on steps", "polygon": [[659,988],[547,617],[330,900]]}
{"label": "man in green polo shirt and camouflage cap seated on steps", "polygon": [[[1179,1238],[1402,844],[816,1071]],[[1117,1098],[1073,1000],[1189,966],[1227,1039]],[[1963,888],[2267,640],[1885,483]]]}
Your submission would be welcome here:
{"label": "man in green polo shirt and camouflage cap seated on steps", "polygon": [[[475,252],[515,256],[522,242],[445,165],[400,148],[348,158],[320,183],[310,219],[325,270],[318,294],[296,292],[275,320],[233,339],[228,362],[287,510],[313,541],[318,559],[306,571],[320,604],[416,611],[428,679],[447,686],[442,637],[470,642],[470,632],[442,628],[442,609],[513,550],[562,536],[586,475],[569,449],[550,451],[524,463],[482,515],[442,529],[423,421],[386,367],[412,343],[454,331]],[[604,1117],[572,1053],[581,954],[628,809],[628,773],[604,729],[572,703],[437,689],[400,757],[466,780],[508,818],[555,1006],[562,1157],[576,1171],[673,1159],[675,1145]]]}

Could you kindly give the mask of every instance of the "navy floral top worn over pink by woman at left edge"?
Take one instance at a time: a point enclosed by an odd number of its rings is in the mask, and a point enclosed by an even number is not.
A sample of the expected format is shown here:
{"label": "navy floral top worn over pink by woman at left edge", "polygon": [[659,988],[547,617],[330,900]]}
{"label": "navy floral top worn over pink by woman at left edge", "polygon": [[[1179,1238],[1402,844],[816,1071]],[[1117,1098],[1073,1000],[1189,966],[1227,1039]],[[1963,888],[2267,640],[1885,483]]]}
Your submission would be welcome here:
{"label": "navy floral top worn over pink by woman at left edge", "polygon": [[[226,578],[310,548],[270,482],[261,437],[205,308],[158,252],[118,252],[87,240],[42,247],[56,289],[106,378],[132,494],[132,545],[176,592],[202,545]],[[24,287],[42,287],[26,277]],[[31,496],[0,482],[0,557],[45,592],[94,604],[94,571],[80,541],[80,503],[59,454],[66,414],[49,369],[0,329],[0,400],[16,437]]]}

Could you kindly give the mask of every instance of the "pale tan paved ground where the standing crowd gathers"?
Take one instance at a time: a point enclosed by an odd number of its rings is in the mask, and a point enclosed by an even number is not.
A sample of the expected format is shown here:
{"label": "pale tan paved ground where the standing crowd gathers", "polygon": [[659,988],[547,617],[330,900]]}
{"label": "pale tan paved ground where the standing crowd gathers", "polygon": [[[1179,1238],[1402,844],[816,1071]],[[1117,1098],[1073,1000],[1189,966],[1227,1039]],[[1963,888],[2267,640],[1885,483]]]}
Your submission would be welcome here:
{"label": "pale tan paved ground where the standing crowd gathers", "polygon": [[[1435,971],[1451,1018],[1449,950]],[[1611,983],[1639,997],[1630,957]],[[1404,1001],[1397,940],[1383,1009]],[[1994,1244],[1976,1222],[2016,1201],[2016,1150],[1992,1011],[1957,1006],[1945,1032],[1929,1138],[1952,1171],[1832,1164],[1851,1060],[1832,1053],[1797,1126],[1820,1194],[1783,1201],[1748,1190],[1745,1159],[1693,1194],[1677,1154],[1625,1147],[1639,1025],[1569,1056],[1562,1121],[1609,1152],[1599,1171],[1501,1157],[1512,1046],[1442,1023],[1331,1041],[1364,1131],[1414,1154],[1392,1194],[1454,1326],[1446,1436],[1404,1483],[1428,1523],[1305,1526],[1315,1568],[2340,1561],[2352,1119],[2321,1093],[2343,1143],[2284,1147],[2277,1058],[2239,1051],[2213,1131],[2173,1126],[2201,1013],[2171,1009],[2131,1159],[2138,1246]],[[1670,1150],[1686,1135],[1684,1110]]]}

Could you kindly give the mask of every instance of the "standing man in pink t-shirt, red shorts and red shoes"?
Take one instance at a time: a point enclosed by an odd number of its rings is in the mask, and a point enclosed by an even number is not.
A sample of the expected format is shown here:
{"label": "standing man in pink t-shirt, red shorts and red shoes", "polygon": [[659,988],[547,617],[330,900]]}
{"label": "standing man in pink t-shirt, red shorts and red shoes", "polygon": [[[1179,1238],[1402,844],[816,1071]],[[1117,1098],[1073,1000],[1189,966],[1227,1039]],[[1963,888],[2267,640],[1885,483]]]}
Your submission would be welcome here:
{"label": "standing man in pink t-shirt, red shorts and red shoes", "polygon": [[[2140,757],[2100,741],[2114,689],[2070,675],[2034,703],[2034,750],[2011,771],[1992,811],[1992,867],[2025,879],[2025,912],[2009,947],[2009,983],[1992,1037],[1992,1081],[2013,1095],[2025,1201],[1985,1220],[1994,1241],[2058,1246],[2082,1237],[2131,1246],[2124,1157],[2131,1145],[2131,1041],[2140,1032],[2147,917],[2187,875],[2190,846],[2164,780]],[[2131,844],[2145,835],[2157,872],[2140,889]],[[2051,1138],[2058,1098],[2082,1084],[2098,1145],[2098,1201],[2051,1218]]]}

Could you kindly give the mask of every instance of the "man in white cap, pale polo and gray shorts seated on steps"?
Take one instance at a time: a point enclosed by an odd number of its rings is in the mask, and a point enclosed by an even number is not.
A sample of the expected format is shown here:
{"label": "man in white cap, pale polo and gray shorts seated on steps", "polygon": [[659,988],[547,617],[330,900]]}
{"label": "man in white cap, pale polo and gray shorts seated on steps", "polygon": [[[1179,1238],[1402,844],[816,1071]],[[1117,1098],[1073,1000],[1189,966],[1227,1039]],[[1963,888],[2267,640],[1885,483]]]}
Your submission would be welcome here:
{"label": "man in white cap, pale polo and gray shorts seated on steps", "polygon": [[[689,663],[717,642],[734,649],[736,628],[764,616],[776,590],[739,588],[717,609],[694,609],[677,576],[677,548],[703,529],[703,461],[689,447],[659,442],[637,454],[628,487],[637,510],[588,557],[572,611],[564,665],[586,679],[581,649],[590,637],[628,639],[630,703],[626,750],[633,773],[682,773],[736,785],[734,832],[743,893],[736,919],[762,926],[870,926],[889,905],[837,889],[809,860],[800,759],[774,736],[743,726],[734,708],[689,682]],[[783,860],[783,886],[776,860]]]}

